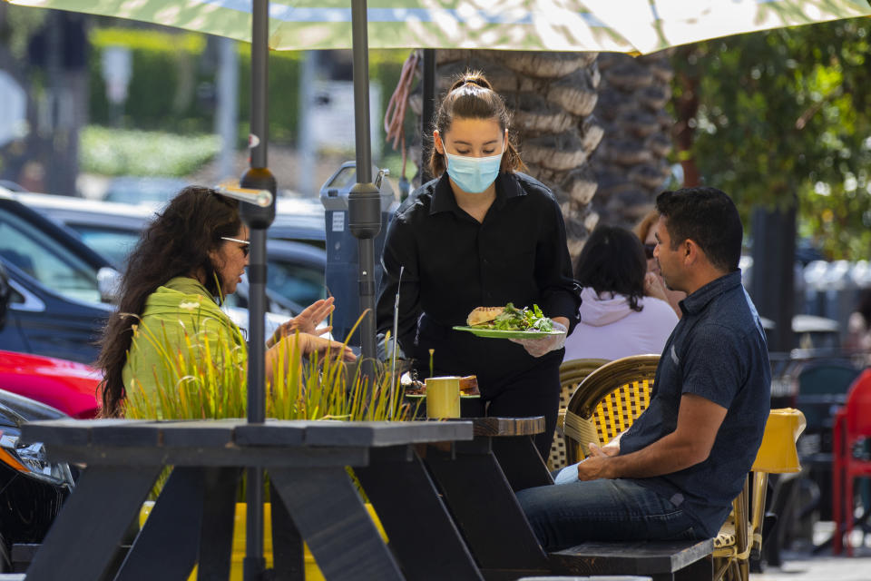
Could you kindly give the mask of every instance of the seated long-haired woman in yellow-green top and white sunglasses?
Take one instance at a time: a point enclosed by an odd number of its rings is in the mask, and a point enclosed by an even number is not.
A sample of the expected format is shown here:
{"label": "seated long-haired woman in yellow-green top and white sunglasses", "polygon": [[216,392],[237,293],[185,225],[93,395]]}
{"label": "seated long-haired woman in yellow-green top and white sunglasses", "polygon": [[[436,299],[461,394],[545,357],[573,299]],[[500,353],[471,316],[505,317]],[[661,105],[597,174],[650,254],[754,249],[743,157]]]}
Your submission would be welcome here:
{"label": "seated long-haired woman in yellow-green top and white sunglasses", "polygon": [[[96,363],[103,370],[104,417],[123,415],[129,389],[156,394],[157,378],[166,375],[173,353],[188,349],[188,341],[198,355],[208,352],[216,365],[247,364],[242,333],[220,303],[236,291],[248,266],[248,234],[239,202],[197,186],[181,190],[142,232],[128,258],[118,310],[103,331]],[[341,343],[318,336],[324,332],[316,330],[318,322],[332,309],[331,299],[318,300],[282,325],[267,343],[267,379],[289,352],[355,359]],[[225,355],[232,360],[219,360]]]}

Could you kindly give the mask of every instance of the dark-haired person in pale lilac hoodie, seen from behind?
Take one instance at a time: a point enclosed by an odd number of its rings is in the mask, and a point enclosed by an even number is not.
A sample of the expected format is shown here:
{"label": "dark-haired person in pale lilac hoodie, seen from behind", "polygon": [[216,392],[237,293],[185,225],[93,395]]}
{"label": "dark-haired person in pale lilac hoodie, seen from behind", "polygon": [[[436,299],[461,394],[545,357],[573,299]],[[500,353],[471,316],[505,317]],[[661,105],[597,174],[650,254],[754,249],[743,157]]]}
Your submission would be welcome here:
{"label": "dark-haired person in pale lilac hoodie, seen from behind", "polygon": [[661,353],[678,318],[669,303],[644,296],[647,263],[628,230],[600,225],[574,266],[581,322],[565,340],[565,358],[620,359]]}

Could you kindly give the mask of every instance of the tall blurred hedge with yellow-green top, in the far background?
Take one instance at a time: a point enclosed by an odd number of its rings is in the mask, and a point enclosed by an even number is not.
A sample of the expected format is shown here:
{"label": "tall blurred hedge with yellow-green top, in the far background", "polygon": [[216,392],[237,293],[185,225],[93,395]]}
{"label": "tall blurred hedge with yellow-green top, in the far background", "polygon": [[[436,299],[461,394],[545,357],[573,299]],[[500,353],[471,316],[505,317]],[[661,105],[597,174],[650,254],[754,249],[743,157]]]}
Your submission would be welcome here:
{"label": "tall blurred hedge with yellow-green top, in the far background", "polygon": [[[132,50],[132,79],[124,104],[123,124],[128,127],[173,133],[211,133],[213,108],[197,98],[198,87],[213,84],[214,51],[205,34],[165,33],[140,28],[94,28],[90,33],[90,119],[112,123],[102,75],[103,49],[111,45]],[[239,43],[239,139],[247,140],[250,123],[250,44]],[[396,88],[408,51],[371,51],[369,74],[381,84],[381,111]],[[293,143],[298,130],[299,74],[305,53],[269,53],[269,141]],[[380,125],[380,123],[378,123]],[[376,135],[384,139],[383,131]],[[385,150],[387,153],[389,146]]]}

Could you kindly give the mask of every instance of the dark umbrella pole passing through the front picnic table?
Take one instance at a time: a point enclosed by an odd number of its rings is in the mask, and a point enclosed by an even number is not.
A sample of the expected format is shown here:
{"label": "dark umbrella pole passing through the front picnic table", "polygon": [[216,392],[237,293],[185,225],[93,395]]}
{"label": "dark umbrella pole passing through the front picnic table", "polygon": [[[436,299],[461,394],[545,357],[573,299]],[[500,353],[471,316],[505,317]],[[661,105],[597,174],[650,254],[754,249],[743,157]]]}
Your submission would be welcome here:
{"label": "dark umbrella pole passing through the front picnic table", "polygon": [[[240,215],[250,229],[251,260],[248,267],[249,349],[248,349],[248,421],[266,419],[265,330],[266,313],[266,230],[275,218],[275,177],[267,167],[269,124],[267,88],[269,87],[269,0],[253,0],[251,21],[251,133],[249,136],[250,169],[240,180],[243,188],[269,190],[272,203],[266,208],[240,204]],[[245,581],[258,581],[266,569],[263,558],[263,468],[247,468],[245,488],[246,527]]]}

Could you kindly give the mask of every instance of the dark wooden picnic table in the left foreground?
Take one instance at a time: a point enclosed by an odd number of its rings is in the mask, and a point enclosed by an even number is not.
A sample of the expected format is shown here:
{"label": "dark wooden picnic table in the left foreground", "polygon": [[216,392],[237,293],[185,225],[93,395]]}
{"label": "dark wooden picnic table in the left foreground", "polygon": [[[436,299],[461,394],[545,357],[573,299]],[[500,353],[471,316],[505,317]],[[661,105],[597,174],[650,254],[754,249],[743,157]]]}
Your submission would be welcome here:
{"label": "dark wooden picnic table in the left foreground", "polygon": [[[170,478],[116,579],[182,579],[194,563],[200,578],[227,579],[236,489],[248,467],[265,468],[282,501],[272,499],[277,578],[302,578],[302,540],[327,579],[423,578],[422,567],[427,578],[481,578],[431,482],[389,483],[414,487],[393,499],[384,495],[390,486],[372,487],[379,517],[413,497],[421,506],[406,505],[409,514],[428,518],[382,517],[388,548],[345,469],[419,466],[414,445],[471,440],[471,422],[54,420],[25,425],[22,438],[44,442],[53,460],[87,465],[28,581],[101,578],[166,466]],[[437,542],[403,539],[403,529]]]}

